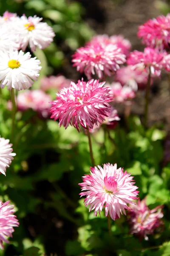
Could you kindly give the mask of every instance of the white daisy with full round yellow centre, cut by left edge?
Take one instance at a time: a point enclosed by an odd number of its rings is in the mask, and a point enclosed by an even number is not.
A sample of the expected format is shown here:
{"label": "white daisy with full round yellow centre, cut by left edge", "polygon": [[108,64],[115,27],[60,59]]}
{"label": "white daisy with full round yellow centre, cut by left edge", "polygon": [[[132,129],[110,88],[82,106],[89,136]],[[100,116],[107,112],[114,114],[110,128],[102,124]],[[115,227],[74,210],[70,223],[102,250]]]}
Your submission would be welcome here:
{"label": "white daisy with full round yellow centre, cut by left edge", "polygon": [[8,90],[27,89],[37,81],[41,69],[37,57],[31,58],[31,54],[23,51],[0,52],[0,87],[8,86]]}

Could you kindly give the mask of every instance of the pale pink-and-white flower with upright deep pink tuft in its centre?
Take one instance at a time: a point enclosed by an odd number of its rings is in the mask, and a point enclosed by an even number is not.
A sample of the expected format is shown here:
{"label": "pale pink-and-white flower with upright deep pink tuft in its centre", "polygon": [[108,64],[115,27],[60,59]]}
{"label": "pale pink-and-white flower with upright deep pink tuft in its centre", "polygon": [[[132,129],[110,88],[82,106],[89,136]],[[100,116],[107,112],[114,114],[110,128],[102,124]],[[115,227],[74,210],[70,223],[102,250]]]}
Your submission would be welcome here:
{"label": "pale pink-and-white flower with upright deep pink tuft in its centre", "polygon": [[129,209],[127,204],[134,204],[133,200],[138,195],[137,186],[130,173],[123,172],[122,168],[117,169],[106,163],[98,168],[91,167],[91,175],[82,177],[83,183],[79,183],[82,192],[79,194],[86,196],[85,206],[90,205],[89,211],[94,209],[94,215],[102,211],[105,207],[105,216],[108,214],[113,220],[120,218],[120,213],[126,214],[125,210]]}

